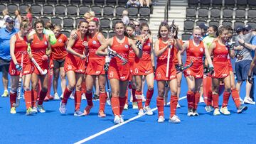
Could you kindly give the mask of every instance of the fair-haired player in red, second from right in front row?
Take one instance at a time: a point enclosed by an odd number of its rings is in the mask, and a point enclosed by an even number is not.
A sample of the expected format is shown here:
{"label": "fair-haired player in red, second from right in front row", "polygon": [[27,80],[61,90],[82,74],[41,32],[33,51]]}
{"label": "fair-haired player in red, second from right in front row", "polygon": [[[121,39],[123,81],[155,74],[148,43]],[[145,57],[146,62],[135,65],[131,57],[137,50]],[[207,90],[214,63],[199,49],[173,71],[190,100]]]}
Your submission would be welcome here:
{"label": "fair-haired player in red, second from right in front row", "polygon": [[199,116],[197,113],[198,102],[200,99],[200,86],[203,79],[203,55],[213,70],[213,63],[210,59],[207,45],[201,41],[201,28],[193,29],[193,39],[188,40],[183,45],[183,51],[186,51],[186,65],[193,61],[193,65],[184,70],[184,75],[188,84],[187,100],[188,100],[188,116]]}

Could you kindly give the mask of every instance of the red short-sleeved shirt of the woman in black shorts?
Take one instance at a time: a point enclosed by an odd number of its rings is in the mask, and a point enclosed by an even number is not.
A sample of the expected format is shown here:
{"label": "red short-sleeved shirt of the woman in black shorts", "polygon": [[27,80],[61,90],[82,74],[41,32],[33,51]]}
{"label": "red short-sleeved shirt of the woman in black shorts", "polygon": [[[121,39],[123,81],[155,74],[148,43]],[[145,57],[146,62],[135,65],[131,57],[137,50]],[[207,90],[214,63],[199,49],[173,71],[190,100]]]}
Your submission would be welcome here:
{"label": "red short-sleeved shirt of the woman in black shorts", "polygon": [[57,42],[54,45],[51,45],[52,48],[52,56],[53,60],[64,60],[65,57],[68,55],[68,52],[65,48],[65,43],[67,42],[68,38],[66,35],[61,33],[57,36]]}

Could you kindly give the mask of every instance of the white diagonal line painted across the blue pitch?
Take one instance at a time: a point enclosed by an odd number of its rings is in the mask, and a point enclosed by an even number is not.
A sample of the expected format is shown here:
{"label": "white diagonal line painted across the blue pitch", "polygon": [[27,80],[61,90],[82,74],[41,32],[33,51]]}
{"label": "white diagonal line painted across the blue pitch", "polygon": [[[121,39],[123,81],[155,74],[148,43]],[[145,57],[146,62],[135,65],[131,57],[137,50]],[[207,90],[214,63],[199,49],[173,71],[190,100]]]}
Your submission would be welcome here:
{"label": "white diagonal line painted across the blue pitch", "polygon": [[[178,101],[181,101],[182,99],[186,99],[186,96],[181,97],[180,99],[178,99]],[[169,104],[170,104],[170,102],[167,103],[167,105],[169,105]],[[156,111],[156,109],[157,109],[157,107],[155,107],[154,109],[151,109],[151,111]],[[144,115],[146,115],[146,113],[143,113],[142,116],[144,116]],[[102,135],[103,133],[107,133],[108,131],[111,131],[114,128],[118,128],[119,126],[122,126],[125,123],[129,123],[130,121],[134,121],[135,119],[140,118],[142,116],[134,116],[133,118],[129,118],[127,121],[124,121],[124,123],[120,123],[118,125],[111,126],[110,128],[107,128],[107,129],[105,129],[103,131],[100,131],[99,133],[95,133],[94,135],[90,135],[89,137],[87,137],[87,138],[85,138],[83,140],[80,140],[80,141],[76,142],[75,144],[85,143],[88,140],[91,140],[92,138],[96,138],[97,136]]]}

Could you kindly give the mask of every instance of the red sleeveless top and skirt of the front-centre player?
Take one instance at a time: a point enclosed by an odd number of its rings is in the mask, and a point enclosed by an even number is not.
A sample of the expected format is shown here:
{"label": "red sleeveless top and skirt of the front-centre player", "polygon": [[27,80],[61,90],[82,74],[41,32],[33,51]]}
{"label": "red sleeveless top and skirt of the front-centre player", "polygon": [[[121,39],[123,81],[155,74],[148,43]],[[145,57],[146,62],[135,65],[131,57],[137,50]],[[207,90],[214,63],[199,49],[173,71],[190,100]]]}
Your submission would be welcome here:
{"label": "red sleeveless top and skirt of the front-centre player", "polygon": [[120,81],[126,81],[129,79],[129,41],[126,36],[124,36],[124,43],[119,43],[117,41],[116,36],[113,37],[113,44],[111,46],[111,49],[116,51],[119,55],[122,55],[125,59],[127,59],[127,63],[125,65],[122,65],[122,60],[120,60],[118,57],[112,57],[110,60],[110,67],[108,70],[108,78],[109,79],[119,79]]}

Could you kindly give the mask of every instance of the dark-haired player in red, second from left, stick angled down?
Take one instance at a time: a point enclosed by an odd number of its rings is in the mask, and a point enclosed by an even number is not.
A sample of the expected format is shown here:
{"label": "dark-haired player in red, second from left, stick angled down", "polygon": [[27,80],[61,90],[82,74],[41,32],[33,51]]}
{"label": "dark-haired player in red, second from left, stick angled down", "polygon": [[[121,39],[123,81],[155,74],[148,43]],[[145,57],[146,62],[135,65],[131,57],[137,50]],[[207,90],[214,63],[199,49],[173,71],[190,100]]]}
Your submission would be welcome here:
{"label": "dark-haired player in red, second from left, stick angled down", "polygon": [[[31,57],[38,63],[39,67],[42,70],[48,70],[49,62],[48,56],[51,53],[50,47],[50,38],[48,35],[43,33],[43,26],[44,23],[41,19],[36,20],[34,23],[34,28],[36,33],[29,37],[31,42]],[[42,89],[39,93],[39,101],[36,106],[36,99],[37,99],[37,89],[38,89],[38,79],[40,79]],[[31,84],[32,84],[32,106],[33,111],[38,111],[41,113],[45,113],[45,109],[43,109],[43,99],[45,99],[47,91],[48,91],[48,74],[41,74],[40,70],[32,63],[32,77],[31,77]]]}

